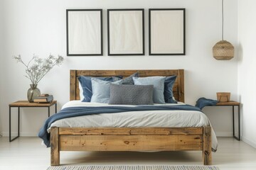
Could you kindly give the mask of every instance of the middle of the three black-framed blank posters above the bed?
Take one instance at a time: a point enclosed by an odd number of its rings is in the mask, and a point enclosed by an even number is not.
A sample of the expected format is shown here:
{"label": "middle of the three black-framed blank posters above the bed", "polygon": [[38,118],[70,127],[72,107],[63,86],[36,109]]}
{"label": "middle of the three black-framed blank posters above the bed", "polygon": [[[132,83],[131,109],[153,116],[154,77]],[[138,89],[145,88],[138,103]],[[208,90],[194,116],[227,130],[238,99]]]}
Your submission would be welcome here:
{"label": "middle of the three black-framed blank posters above the bed", "polygon": [[108,55],[144,55],[144,9],[107,10]]}

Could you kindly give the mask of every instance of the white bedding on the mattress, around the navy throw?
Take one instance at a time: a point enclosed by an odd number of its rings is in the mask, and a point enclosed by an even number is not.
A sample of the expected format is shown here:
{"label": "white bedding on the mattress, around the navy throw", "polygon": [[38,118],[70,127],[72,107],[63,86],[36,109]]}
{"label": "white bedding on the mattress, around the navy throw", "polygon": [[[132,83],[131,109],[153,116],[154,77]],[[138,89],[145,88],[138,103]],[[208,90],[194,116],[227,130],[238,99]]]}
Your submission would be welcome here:
{"label": "white bedding on the mattress, around the navy throw", "polygon": [[[184,103],[168,104],[183,105]],[[161,104],[156,104],[161,105]],[[166,105],[166,104],[165,104]],[[114,106],[106,103],[87,103],[81,101],[69,101],[63,108],[78,106]],[[120,106],[120,105],[118,105]],[[127,105],[125,105],[127,106]],[[134,106],[128,106],[134,107]],[[101,113],[84,115],[73,118],[57,120],[51,127],[202,127],[210,125],[210,121],[204,113],[199,111],[131,111],[125,113]],[[48,129],[50,130],[50,129]],[[212,147],[217,149],[217,138],[212,130]]]}

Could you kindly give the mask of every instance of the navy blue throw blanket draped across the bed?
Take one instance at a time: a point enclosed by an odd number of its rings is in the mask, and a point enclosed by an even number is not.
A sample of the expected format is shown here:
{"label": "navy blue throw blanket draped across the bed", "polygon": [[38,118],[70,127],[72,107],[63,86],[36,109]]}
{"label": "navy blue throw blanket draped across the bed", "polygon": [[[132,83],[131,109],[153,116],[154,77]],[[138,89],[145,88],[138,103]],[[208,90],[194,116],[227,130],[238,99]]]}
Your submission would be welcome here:
{"label": "navy blue throw blanket draped across the bed", "polygon": [[176,106],[102,106],[102,107],[70,107],[64,108],[58,113],[51,115],[48,118],[38,133],[38,137],[43,139],[43,142],[47,147],[50,147],[50,134],[47,132],[50,125],[56,120],[63,118],[71,118],[80,115],[92,115],[100,113],[121,113],[128,111],[174,111],[174,110],[185,110],[185,111],[201,111],[199,108],[190,105],[176,105]]}

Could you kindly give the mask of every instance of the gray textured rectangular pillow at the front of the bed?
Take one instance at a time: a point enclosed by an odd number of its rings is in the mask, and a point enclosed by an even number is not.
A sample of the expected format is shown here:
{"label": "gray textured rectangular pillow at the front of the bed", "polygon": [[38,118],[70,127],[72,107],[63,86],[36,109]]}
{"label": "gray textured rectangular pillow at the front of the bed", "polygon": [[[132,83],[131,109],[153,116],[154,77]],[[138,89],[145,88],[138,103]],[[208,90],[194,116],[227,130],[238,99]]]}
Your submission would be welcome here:
{"label": "gray textured rectangular pillow at the front of the bed", "polygon": [[109,104],[152,105],[153,85],[117,85],[110,84]]}

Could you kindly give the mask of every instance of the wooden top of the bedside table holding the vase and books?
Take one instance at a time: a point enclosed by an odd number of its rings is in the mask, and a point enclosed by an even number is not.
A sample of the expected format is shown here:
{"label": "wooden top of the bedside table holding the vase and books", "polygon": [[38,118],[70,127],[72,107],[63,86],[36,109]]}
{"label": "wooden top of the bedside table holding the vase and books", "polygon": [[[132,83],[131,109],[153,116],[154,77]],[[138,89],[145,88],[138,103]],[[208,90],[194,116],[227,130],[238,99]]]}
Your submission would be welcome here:
{"label": "wooden top of the bedside table holding the vase and books", "polygon": [[57,101],[52,101],[51,103],[29,103],[29,101],[16,101],[10,103],[11,107],[50,107],[53,106]]}

